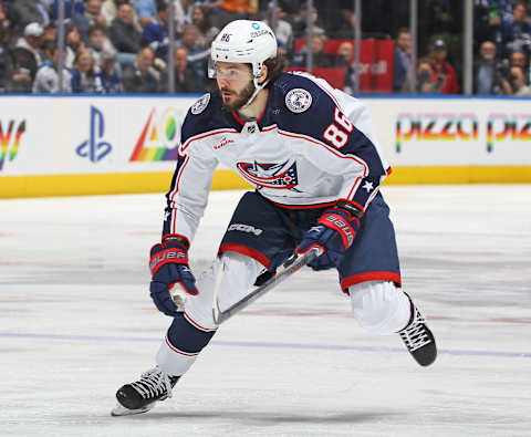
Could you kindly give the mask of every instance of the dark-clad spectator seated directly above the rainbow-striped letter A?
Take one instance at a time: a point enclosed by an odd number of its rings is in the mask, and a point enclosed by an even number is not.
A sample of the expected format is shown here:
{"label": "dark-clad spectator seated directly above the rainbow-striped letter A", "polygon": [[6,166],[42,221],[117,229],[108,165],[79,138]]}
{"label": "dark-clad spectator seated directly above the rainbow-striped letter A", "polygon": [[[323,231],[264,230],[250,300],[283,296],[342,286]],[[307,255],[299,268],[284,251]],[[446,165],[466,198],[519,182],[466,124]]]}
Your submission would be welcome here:
{"label": "dark-clad spectator seated directly above the rainbow-striped letter A", "polygon": [[155,53],[145,48],[138,52],[136,61],[126,65],[122,74],[122,83],[126,93],[156,93],[159,89],[160,75],[153,67]]}

